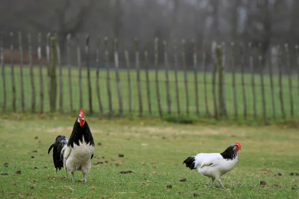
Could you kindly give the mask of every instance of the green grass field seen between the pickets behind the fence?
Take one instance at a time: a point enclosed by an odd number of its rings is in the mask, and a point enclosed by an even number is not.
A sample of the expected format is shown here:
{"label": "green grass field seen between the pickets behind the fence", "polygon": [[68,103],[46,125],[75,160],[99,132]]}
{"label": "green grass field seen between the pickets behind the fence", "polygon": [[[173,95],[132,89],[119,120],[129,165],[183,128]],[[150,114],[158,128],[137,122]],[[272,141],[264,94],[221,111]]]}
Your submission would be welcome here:
{"label": "green grass field seen between the pickets behind the fence", "polygon": [[[1,72],[0,72],[1,73]],[[6,79],[6,89],[7,89],[7,104],[6,104],[6,111],[12,110],[12,87],[11,87],[11,75],[10,75],[10,68],[7,66],[4,70],[5,79]],[[77,68],[72,69],[72,99],[74,103],[74,109],[77,110],[80,108],[79,104],[79,80],[78,80],[78,70]],[[87,72],[86,69],[83,69],[83,106],[85,109],[89,109],[88,103],[88,87],[87,87]],[[43,70],[43,78],[44,78],[44,92],[45,92],[45,111],[49,111],[49,98],[48,98],[48,89],[47,89],[47,82],[46,82],[46,69]],[[57,73],[58,74],[58,73]],[[145,71],[141,70],[141,88],[142,88],[142,101],[143,101],[143,111],[144,115],[149,114],[148,108],[148,101],[150,101],[152,112],[154,116],[158,115],[157,109],[157,100],[156,100],[156,87],[155,87],[155,79],[154,79],[154,71],[149,71],[149,79],[150,79],[150,99],[147,98],[147,90],[146,90],[146,75]],[[115,71],[111,70],[110,73],[111,77],[111,92],[112,92],[112,106],[115,111],[115,114],[119,111],[119,101],[118,101],[118,94],[117,94],[117,84],[115,78]],[[161,107],[163,115],[167,115],[167,101],[166,101],[166,86],[165,86],[165,74],[164,71],[159,71],[158,73],[159,78],[159,92],[161,98]],[[262,118],[263,116],[263,104],[262,104],[262,89],[261,89],[261,82],[260,76],[255,75],[255,82],[256,82],[256,106],[257,106],[257,116],[258,118]],[[189,95],[189,111],[190,115],[196,115],[196,101],[195,101],[195,85],[194,85],[194,74],[193,72],[187,73],[188,79],[188,95]],[[252,87],[251,87],[251,75],[246,74],[244,76],[245,79],[245,95],[246,95],[246,105],[247,105],[247,118],[249,120],[253,119],[253,95],[252,95]],[[58,81],[58,79],[57,79]],[[137,90],[137,76],[136,72],[132,69],[131,70],[131,84],[132,84],[132,109],[135,114],[139,111],[139,100],[138,100],[138,90]],[[175,83],[174,83],[174,72],[169,72],[169,81],[170,81],[170,100],[171,100],[171,111],[172,114],[175,115],[177,113],[176,107],[176,98],[175,98]],[[186,94],[185,94],[185,86],[184,86],[184,78],[183,72],[178,73],[178,87],[179,87],[179,102],[180,102],[180,109],[181,113],[186,114]],[[276,120],[280,121],[282,118],[281,113],[281,103],[279,98],[279,79],[278,76],[273,77],[274,81],[274,99],[275,99],[275,112],[276,112]],[[20,71],[19,66],[15,67],[15,82],[16,82],[16,105],[17,110],[20,111],[21,107],[21,97],[20,97]],[[212,98],[212,76],[210,73],[207,74],[207,99],[208,99],[208,109],[211,114],[213,114],[213,98]],[[234,101],[233,101],[233,90],[232,90],[232,74],[227,73],[225,76],[226,88],[225,88],[225,95],[226,95],[226,105],[228,116],[230,118],[234,118]],[[237,108],[238,108],[238,119],[244,118],[244,103],[243,103],[243,91],[241,86],[241,75],[236,74],[236,93],[237,93]],[[38,77],[38,69],[34,69],[34,83],[35,83],[35,90],[36,90],[36,110],[40,110],[40,97],[39,97],[39,90],[40,90],[40,83]],[[92,105],[95,113],[99,113],[99,104],[96,94],[96,73],[95,70],[91,70],[91,83],[92,83]],[[3,101],[2,95],[2,81],[1,81],[1,98],[0,101]],[[120,70],[120,84],[122,90],[122,97],[123,97],[123,108],[124,113],[127,114],[129,111],[129,92],[128,92],[128,81],[127,81],[127,71]],[[218,85],[218,83],[216,83]],[[299,90],[298,90],[298,77],[296,74],[292,75],[292,84],[293,84],[293,101],[294,101],[294,113],[295,118],[299,118]],[[270,76],[264,76],[264,85],[265,85],[265,98],[266,98],[266,115],[269,120],[272,120],[273,110],[272,110],[272,100],[271,100],[271,89],[270,89]],[[70,95],[69,95],[69,84],[68,84],[68,75],[67,69],[63,69],[63,109],[65,112],[70,111]],[[30,104],[31,104],[31,86],[30,86],[30,76],[29,76],[29,69],[24,67],[24,89],[25,89],[25,110],[30,111]],[[100,92],[101,92],[101,99],[103,102],[104,111],[107,112],[109,110],[108,104],[108,93],[107,93],[107,80],[106,80],[106,71],[104,69],[100,70]],[[217,91],[216,91],[217,92]],[[204,84],[203,84],[203,74],[198,74],[198,94],[199,94],[199,110],[200,116],[206,117],[205,114],[205,101],[204,101]],[[291,104],[290,104],[290,92],[289,92],[289,82],[288,76],[283,77],[283,97],[284,97],[284,108],[286,112],[287,118],[291,117]],[[57,96],[57,108],[58,106],[58,99],[59,99],[59,92]],[[218,103],[218,99],[217,99]]]}

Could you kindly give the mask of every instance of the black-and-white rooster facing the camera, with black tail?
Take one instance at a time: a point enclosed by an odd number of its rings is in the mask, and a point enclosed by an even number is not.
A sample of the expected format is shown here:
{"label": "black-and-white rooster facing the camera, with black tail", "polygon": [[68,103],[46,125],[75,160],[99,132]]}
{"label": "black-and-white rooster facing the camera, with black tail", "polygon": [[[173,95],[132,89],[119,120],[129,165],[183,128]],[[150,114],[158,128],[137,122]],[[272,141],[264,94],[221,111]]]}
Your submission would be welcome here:
{"label": "black-and-white rooster facing the camera, with black tail", "polygon": [[84,109],[81,108],[79,117],[76,119],[72,134],[69,139],[63,135],[56,137],[48,153],[53,148],[54,166],[60,170],[62,167],[72,174],[75,182],[74,172],[81,171],[86,183],[86,173],[90,170],[91,159],[94,156],[95,143],[84,118]]}

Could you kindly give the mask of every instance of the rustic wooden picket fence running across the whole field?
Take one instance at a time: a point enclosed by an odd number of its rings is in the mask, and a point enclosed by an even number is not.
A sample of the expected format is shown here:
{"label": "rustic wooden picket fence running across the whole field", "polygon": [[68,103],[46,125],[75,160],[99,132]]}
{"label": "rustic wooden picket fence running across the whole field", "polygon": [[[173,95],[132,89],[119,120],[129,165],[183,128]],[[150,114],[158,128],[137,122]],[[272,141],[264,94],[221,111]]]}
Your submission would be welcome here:
{"label": "rustic wooden picket fence running across the whole field", "polygon": [[[12,33],[10,33],[10,36],[13,39]],[[80,39],[82,38],[77,35],[77,44],[79,44]],[[140,117],[144,115],[157,115],[160,117],[187,115],[216,119],[262,119],[266,123],[269,120],[285,121],[299,116],[298,45],[292,48],[296,53],[296,67],[291,67],[289,45],[285,44],[284,49],[278,45],[278,74],[276,75],[273,73],[272,57],[269,59],[267,67],[263,66],[265,65],[263,60],[266,58],[261,54],[260,45],[258,46],[260,50],[257,55],[258,63],[254,63],[251,43],[246,46],[246,52],[244,45],[238,45],[238,56],[235,56],[237,45],[233,42],[230,43],[229,47],[230,56],[226,56],[224,52],[226,49],[224,43],[221,45],[214,43],[211,49],[212,64],[208,66],[206,44],[202,46],[202,57],[199,62],[196,41],[192,40],[193,71],[190,71],[186,67],[186,41],[184,39],[181,42],[174,41],[171,44],[167,44],[166,41],[159,41],[158,38],[154,39],[154,70],[149,69],[148,43],[145,43],[144,47],[141,48],[138,39],[134,41],[135,69],[131,68],[130,53],[126,47],[123,52],[126,70],[120,68],[118,39],[114,40],[112,52],[109,50],[107,37],[104,38],[103,43],[101,43],[100,38],[97,39],[96,68],[91,68],[90,37],[87,36],[85,38],[84,53],[81,52],[80,45],[76,46],[76,69],[70,64],[71,35],[67,36],[66,42],[66,67],[62,66],[60,47],[57,45],[55,35],[51,36],[50,33],[47,35],[45,58],[41,56],[42,37],[41,34],[38,35],[36,50],[38,66],[32,60],[32,51],[35,50],[32,49],[31,35],[27,35],[28,51],[26,54],[28,56],[28,65],[23,63],[20,32],[18,33],[18,41],[19,60],[14,60],[16,51],[11,44],[9,49],[10,64],[4,64],[2,32],[0,34],[2,79],[0,99],[2,109],[6,112],[26,112],[28,111],[26,107],[30,107],[29,111],[32,113],[56,112],[57,110],[64,113],[88,105],[88,107],[84,107],[89,113],[99,113],[109,117],[122,117],[137,112]],[[158,49],[159,42],[162,43],[163,49]],[[104,45],[104,52],[100,50],[101,45]],[[173,53],[171,55],[167,51],[169,46],[172,47]],[[180,46],[181,54],[178,54],[178,46]],[[159,68],[159,50],[163,51],[162,70]],[[282,55],[283,50],[284,57]],[[5,49],[5,51],[7,50]],[[114,55],[113,68],[111,68],[110,53]],[[84,65],[82,65],[82,57],[86,60]],[[249,60],[248,66],[245,59]],[[286,64],[283,64],[283,59],[286,60]],[[46,62],[43,60],[46,60]],[[237,61],[239,61],[239,64],[237,64]],[[105,69],[100,69],[101,62],[105,62]],[[15,63],[19,63],[19,65]],[[259,74],[254,73],[255,64],[260,69]],[[16,67],[19,74],[15,74]],[[207,72],[208,67],[212,67],[211,73]],[[237,72],[238,67],[241,67],[240,72]],[[201,72],[199,72],[199,68],[202,69]],[[230,69],[230,73],[225,73],[227,68]],[[245,73],[245,68],[249,68],[251,73]],[[266,68],[268,68],[267,74],[265,74]],[[26,74],[24,74],[25,69],[28,69]],[[283,69],[286,70],[286,74],[283,74]],[[297,71],[297,74],[294,74],[294,71]],[[83,73],[86,73],[86,76]],[[115,78],[111,77],[112,73],[115,74]],[[163,75],[163,78],[161,78],[161,75]],[[259,84],[257,81],[259,81]],[[16,85],[16,82],[18,82],[18,85]],[[265,84],[265,82],[268,83]],[[126,86],[124,86],[125,84]],[[30,89],[25,91],[24,87],[28,85],[30,85]],[[136,86],[135,91],[133,91],[133,86]],[[75,94],[74,89],[78,90]],[[106,90],[106,95],[103,94],[104,90]],[[181,95],[182,93],[184,94]],[[86,96],[88,103],[83,100]],[[28,100],[25,101],[25,99]],[[25,104],[27,101],[30,101],[30,105]],[[184,105],[182,105],[182,101]],[[136,104],[138,105],[136,106]],[[56,105],[58,105],[58,108]]]}

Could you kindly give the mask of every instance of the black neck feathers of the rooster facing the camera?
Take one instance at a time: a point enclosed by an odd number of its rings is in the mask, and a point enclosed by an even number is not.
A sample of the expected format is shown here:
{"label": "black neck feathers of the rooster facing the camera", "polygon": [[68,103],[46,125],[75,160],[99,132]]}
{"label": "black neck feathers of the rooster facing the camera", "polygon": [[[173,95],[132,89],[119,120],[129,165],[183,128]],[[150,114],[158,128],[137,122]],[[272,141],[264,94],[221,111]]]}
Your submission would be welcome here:
{"label": "black neck feathers of the rooster facing the camera", "polygon": [[83,138],[86,144],[95,146],[87,121],[85,121],[84,125],[81,127],[79,122],[76,120],[67,146],[71,146],[72,148],[74,147],[74,144],[79,146],[80,142],[83,142]]}

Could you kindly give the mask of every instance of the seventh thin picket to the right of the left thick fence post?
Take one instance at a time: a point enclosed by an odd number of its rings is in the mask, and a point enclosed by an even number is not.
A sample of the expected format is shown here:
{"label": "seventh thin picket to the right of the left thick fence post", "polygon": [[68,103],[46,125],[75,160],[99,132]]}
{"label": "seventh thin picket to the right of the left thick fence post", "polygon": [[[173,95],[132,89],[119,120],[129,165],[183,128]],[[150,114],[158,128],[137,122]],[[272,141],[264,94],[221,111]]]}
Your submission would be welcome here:
{"label": "seventh thin picket to the right of the left thick fence post", "polygon": [[117,85],[117,93],[119,98],[119,111],[120,116],[123,116],[123,98],[122,98],[122,88],[120,83],[120,75],[119,75],[119,58],[118,58],[118,39],[114,39],[114,64],[115,64],[115,76],[116,76],[116,85]]}

